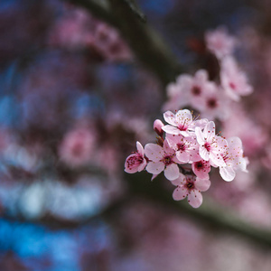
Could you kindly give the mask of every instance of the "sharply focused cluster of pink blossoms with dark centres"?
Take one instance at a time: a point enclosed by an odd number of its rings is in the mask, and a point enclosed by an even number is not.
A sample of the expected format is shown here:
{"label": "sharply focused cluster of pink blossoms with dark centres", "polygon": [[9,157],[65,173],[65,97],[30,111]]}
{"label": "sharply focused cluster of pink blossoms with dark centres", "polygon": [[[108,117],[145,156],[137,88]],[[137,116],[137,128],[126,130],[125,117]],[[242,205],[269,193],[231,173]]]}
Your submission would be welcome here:
{"label": "sharply focused cluster of pink blossoms with dark centres", "polygon": [[194,208],[202,203],[201,192],[210,187],[210,166],[220,169],[220,176],[229,182],[236,172],[247,171],[248,160],[243,156],[238,137],[226,139],[215,132],[215,123],[207,118],[197,119],[188,109],[164,113],[164,121],[154,121],[157,143],[145,148],[136,142],[137,151],[126,158],[126,173],[144,169],[153,174],[152,180],[164,172],[176,189],[173,199],[186,196]]}

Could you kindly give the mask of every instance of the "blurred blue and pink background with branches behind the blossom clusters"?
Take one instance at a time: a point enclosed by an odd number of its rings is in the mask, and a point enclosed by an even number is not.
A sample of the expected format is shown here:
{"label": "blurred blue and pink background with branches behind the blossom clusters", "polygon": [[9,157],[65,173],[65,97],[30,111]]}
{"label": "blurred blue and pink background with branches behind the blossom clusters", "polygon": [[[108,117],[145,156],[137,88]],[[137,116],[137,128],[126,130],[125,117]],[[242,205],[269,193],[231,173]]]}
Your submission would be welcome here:
{"label": "blurred blue and pink background with branches behind the blossom clusters", "polygon": [[[147,23],[87,2],[0,1],[0,270],[271,270],[269,1],[138,0]],[[249,173],[214,170],[193,210],[124,163],[155,141],[171,80],[218,73],[204,34],[221,25],[254,92],[217,121]]]}

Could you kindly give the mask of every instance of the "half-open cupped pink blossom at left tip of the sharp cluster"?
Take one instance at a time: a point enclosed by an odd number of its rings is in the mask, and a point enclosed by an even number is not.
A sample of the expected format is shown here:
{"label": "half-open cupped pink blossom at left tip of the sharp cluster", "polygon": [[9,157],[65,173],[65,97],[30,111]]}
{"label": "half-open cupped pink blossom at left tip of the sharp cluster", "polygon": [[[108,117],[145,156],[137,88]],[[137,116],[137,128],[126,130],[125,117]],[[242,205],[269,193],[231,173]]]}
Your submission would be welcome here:
{"label": "half-open cupped pink blossom at left tip of the sharp cluster", "polygon": [[136,148],[137,151],[135,154],[130,154],[126,158],[126,173],[142,172],[145,169],[146,160],[144,157],[144,148],[138,141],[136,141]]}

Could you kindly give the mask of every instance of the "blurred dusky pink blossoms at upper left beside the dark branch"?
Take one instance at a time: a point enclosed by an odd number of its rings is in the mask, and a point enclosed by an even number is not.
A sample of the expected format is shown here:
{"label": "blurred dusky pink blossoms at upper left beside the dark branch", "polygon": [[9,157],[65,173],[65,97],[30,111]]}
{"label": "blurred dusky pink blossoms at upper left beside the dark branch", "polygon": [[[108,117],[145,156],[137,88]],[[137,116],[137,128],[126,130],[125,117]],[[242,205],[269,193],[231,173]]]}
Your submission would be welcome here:
{"label": "blurred dusky pink blossoms at upper left beside the dark branch", "polygon": [[132,52],[116,29],[81,9],[61,16],[51,30],[49,43],[69,50],[89,49],[106,61],[132,59]]}

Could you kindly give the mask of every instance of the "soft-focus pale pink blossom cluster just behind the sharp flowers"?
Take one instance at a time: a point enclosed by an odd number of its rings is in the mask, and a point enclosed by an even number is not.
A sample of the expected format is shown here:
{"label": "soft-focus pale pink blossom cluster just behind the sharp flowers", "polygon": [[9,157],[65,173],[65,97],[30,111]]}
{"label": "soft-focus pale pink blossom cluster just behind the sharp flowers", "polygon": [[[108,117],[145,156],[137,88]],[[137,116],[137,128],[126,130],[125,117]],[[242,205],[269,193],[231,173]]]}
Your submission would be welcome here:
{"label": "soft-focus pale pink blossom cluster just behind the sharp flowers", "polygon": [[168,101],[164,110],[189,106],[200,111],[203,117],[225,120],[229,117],[231,103],[248,96],[253,89],[233,56],[238,42],[225,28],[207,32],[205,43],[207,51],[220,65],[216,80],[209,79],[207,70],[198,70],[194,76],[181,74],[176,82],[167,86]]}

